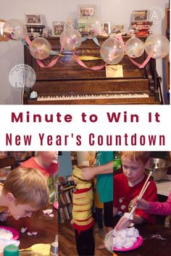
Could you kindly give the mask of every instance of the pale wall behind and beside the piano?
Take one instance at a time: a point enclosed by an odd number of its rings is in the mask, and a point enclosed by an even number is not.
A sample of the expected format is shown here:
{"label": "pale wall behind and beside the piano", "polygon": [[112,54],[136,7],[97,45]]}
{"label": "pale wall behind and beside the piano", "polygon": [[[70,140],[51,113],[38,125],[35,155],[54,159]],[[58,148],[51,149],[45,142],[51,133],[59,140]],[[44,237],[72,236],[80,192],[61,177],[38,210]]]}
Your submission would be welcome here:
{"label": "pale wall behind and beside the piano", "polygon": [[[101,20],[129,26],[130,15],[135,9],[161,7],[165,9],[168,0],[0,0],[0,19],[12,18],[25,21],[25,13],[42,14],[43,24],[52,26],[53,21],[76,18],[78,4],[97,4]],[[163,24],[154,26],[154,33],[163,33]],[[23,46],[20,41],[0,42],[0,104],[20,104],[20,89],[12,88],[8,81],[9,71],[14,65],[24,62]],[[157,60],[157,70],[162,76],[162,61]]]}

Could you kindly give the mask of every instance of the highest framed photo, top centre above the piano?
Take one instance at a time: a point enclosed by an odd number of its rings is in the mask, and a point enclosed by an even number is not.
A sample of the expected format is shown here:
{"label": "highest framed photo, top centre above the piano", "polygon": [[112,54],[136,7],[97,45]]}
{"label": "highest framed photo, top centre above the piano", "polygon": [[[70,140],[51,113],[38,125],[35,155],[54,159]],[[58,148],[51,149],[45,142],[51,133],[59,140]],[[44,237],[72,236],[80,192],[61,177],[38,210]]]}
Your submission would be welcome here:
{"label": "highest framed photo, top centre above the piano", "polygon": [[96,15],[96,12],[97,12],[96,4],[78,5],[78,17],[80,18],[94,17]]}

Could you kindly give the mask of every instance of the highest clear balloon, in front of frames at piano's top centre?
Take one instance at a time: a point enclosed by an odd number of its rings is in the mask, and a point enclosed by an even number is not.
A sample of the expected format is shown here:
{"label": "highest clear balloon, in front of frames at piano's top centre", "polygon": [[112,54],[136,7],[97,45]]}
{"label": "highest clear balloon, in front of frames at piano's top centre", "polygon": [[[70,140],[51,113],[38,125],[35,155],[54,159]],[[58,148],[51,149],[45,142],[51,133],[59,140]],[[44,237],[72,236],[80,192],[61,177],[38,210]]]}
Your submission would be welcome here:
{"label": "highest clear balloon, in front of frames at piano's top centre", "polygon": [[103,30],[103,24],[98,17],[89,17],[85,22],[85,30],[89,36],[99,36]]}

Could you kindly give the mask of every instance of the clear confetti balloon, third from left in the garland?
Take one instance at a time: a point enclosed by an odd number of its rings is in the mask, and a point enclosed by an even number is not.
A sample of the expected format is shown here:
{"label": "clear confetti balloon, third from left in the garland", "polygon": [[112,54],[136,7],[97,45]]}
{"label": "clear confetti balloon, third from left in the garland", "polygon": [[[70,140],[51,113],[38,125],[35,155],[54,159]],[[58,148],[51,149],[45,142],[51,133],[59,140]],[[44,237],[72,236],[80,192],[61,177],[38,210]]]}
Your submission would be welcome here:
{"label": "clear confetti balloon, third from left in the garland", "polygon": [[74,51],[80,47],[82,43],[82,37],[78,30],[74,28],[68,28],[62,32],[59,41],[63,49],[67,51]]}

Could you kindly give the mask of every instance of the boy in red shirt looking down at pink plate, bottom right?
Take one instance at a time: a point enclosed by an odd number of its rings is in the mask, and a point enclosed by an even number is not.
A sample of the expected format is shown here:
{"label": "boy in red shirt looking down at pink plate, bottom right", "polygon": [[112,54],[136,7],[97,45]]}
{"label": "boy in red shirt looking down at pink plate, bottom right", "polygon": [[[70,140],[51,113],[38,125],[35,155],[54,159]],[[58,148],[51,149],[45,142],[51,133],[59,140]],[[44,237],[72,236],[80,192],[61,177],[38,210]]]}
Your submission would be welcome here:
{"label": "boy in red shirt looking down at pink plate, bottom right", "polygon": [[[120,152],[123,173],[114,176],[114,216],[122,216],[133,208],[132,200],[139,195],[146,182],[144,169],[149,156],[150,152]],[[143,199],[149,202],[157,201],[157,187],[154,181],[150,181]],[[132,222],[139,224],[143,221],[154,223],[155,217],[142,209],[136,209]],[[130,222],[131,220],[122,216],[116,230],[128,227]]]}

